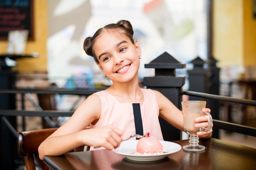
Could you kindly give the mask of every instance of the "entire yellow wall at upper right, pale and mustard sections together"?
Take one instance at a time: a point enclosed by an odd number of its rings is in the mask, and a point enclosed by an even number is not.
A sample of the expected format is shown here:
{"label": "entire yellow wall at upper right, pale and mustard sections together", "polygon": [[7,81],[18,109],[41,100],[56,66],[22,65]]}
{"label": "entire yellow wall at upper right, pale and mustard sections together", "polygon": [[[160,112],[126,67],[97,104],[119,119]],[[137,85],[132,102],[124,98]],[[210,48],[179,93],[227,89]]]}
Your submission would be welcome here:
{"label": "entire yellow wall at upper right, pale and mustard sections together", "polygon": [[213,57],[220,67],[256,65],[252,0],[213,0]]}

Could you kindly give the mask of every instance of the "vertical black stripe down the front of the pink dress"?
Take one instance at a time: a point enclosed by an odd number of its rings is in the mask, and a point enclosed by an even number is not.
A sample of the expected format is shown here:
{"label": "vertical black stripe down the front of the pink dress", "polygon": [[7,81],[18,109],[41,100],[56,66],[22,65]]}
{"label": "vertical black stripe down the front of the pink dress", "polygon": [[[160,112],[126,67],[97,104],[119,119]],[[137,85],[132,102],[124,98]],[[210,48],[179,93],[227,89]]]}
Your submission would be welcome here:
{"label": "vertical black stripe down the front of the pink dress", "polygon": [[[143,135],[143,126],[142,126],[142,119],[141,119],[139,103],[133,103],[132,107],[133,107],[133,115],[134,115],[136,134]],[[136,138],[136,139],[138,139],[138,138]]]}

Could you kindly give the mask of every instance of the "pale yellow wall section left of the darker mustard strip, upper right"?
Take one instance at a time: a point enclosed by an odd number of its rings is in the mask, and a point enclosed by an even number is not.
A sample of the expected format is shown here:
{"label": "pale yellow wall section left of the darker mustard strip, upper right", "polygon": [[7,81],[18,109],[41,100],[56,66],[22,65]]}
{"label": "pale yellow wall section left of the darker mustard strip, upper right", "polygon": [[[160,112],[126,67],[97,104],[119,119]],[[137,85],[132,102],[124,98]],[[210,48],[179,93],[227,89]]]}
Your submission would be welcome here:
{"label": "pale yellow wall section left of the darker mustard strip, upper right", "polygon": [[220,66],[243,64],[242,0],[213,0],[213,57]]}

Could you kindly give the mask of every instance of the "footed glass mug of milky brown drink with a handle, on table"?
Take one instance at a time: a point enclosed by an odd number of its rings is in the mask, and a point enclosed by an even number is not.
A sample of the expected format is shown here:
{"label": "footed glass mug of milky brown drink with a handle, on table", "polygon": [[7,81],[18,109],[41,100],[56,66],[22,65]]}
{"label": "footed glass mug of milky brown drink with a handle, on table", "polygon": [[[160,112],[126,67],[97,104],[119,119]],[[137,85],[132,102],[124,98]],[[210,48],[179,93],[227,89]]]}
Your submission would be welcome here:
{"label": "footed glass mug of milky brown drink with a handle, on table", "polygon": [[[181,102],[184,119],[184,131],[190,135],[189,145],[183,146],[184,150],[202,151],[205,146],[199,145],[199,137],[196,135],[199,131],[207,132],[211,130],[212,117],[210,113],[202,113],[202,108],[206,107],[206,101],[184,101]],[[208,120],[207,127],[195,128],[195,118],[206,116]]]}

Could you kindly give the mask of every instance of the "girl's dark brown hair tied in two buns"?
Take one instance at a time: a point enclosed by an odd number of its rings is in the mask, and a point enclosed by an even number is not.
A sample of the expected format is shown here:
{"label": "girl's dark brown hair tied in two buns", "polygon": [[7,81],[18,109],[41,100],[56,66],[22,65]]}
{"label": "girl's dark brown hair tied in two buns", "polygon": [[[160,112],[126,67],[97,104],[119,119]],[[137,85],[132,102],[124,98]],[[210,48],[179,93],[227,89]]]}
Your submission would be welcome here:
{"label": "girl's dark brown hair tied in two buns", "polygon": [[99,35],[101,35],[101,33],[103,33],[103,31],[112,31],[112,30],[116,30],[116,31],[120,31],[121,33],[124,33],[124,35],[131,40],[132,44],[134,44],[133,29],[129,21],[120,20],[116,24],[108,24],[103,28],[98,29],[92,37],[85,38],[83,42],[83,49],[85,53],[94,57],[94,60],[97,63],[99,63],[99,60],[97,59],[97,56],[95,55],[95,51],[93,48],[95,40]]}

